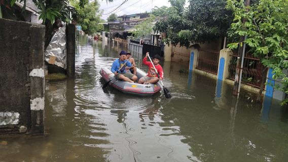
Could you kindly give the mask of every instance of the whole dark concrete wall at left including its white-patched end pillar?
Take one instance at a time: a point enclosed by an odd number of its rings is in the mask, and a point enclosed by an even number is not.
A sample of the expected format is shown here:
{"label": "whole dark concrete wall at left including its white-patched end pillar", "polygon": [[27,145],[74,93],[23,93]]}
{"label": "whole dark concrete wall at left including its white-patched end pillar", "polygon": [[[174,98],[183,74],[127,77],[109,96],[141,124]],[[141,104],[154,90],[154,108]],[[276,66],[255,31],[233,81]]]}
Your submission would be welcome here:
{"label": "whole dark concrete wall at left including its white-patched end pillar", "polygon": [[0,135],[44,133],[45,26],[0,19]]}

